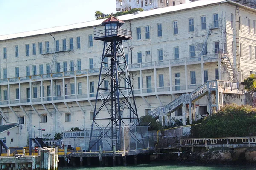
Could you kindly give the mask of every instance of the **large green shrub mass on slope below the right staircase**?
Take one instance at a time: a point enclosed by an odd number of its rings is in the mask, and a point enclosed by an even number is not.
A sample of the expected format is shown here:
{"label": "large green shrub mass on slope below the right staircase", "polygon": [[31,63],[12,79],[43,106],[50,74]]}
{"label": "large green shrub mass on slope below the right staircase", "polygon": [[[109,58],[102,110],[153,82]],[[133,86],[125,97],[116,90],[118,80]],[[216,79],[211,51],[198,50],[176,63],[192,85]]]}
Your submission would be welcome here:
{"label": "large green shrub mass on slope below the right staircase", "polygon": [[[226,105],[200,125],[191,127],[193,138],[256,136],[256,108],[249,105]],[[197,122],[195,122],[197,123]]]}

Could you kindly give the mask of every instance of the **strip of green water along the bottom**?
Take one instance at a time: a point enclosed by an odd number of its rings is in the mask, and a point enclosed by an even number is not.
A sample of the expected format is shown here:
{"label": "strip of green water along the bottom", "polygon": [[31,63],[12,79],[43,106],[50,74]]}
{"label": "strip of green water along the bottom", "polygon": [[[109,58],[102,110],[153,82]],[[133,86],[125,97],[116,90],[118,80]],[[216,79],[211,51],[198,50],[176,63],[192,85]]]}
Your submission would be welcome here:
{"label": "strip of green water along the bottom", "polygon": [[256,167],[152,163],[127,167],[59,167],[59,170],[256,170]]}

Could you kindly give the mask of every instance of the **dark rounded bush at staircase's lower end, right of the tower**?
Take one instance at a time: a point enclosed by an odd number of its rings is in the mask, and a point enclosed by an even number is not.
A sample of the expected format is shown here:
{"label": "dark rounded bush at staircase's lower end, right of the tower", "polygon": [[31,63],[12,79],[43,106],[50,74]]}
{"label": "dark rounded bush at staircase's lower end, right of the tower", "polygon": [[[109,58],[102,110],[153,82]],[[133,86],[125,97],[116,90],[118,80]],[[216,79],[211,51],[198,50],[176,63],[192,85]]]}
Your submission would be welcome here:
{"label": "dark rounded bush at staircase's lower end, right of the tower", "polygon": [[[149,124],[150,123],[150,124]],[[148,126],[148,130],[160,130],[163,129],[161,123],[157,120],[155,120],[151,115],[146,115],[140,117],[140,125],[141,126]]]}

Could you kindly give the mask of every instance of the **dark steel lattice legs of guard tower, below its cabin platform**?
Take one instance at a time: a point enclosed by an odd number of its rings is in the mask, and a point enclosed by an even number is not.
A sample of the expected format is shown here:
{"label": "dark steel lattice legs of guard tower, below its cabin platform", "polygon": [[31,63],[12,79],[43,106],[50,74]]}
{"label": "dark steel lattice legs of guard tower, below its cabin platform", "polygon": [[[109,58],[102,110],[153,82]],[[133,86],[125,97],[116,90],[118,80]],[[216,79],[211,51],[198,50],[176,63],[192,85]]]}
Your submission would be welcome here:
{"label": "dark steel lattice legs of guard tower, below its cabin platform", "polygon": [[[103,108],[108,114],[102,116],[100,113]],[[126,115],[125,110],[129,112]],[[127,61],[122,40],[112,37],[111,40],[104,40],[89,150],[101,140],[107,141],[111,148],[116,145],[116,149],[121,149],[121,127],[131,126],[131,122],[139,123],[139,119]],[[96,137],[93,130],[98,133]]]}

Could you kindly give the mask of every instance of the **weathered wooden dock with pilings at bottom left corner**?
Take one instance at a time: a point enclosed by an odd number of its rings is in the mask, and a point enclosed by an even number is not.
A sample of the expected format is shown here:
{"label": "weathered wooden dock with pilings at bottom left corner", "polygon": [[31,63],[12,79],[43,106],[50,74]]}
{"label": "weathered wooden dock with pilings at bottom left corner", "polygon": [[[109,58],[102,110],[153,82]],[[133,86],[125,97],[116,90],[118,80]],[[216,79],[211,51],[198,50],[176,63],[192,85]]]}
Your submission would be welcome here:
{"label": "weathered wooden dock with pilings at bottom left corner", "polygon": [[10,156],[0,156],[1,170],[58,170],[58,147],[38,148],[38,156],[26,156],[25,149],[23,154]]}

